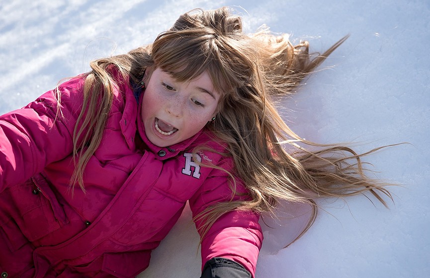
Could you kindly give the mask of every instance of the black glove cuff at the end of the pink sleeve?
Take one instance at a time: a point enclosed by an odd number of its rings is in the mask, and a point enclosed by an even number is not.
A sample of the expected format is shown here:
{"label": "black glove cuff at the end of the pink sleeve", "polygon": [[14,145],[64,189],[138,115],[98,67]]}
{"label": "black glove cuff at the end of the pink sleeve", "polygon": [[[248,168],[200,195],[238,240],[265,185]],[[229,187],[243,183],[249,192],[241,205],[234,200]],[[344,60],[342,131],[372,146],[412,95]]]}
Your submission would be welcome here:
{"label": "black glove cuff at the end of the pink sleeve", "polygon": [[252,278],[241,264],[224,258],[213,258],[206,262],[200,278]]}

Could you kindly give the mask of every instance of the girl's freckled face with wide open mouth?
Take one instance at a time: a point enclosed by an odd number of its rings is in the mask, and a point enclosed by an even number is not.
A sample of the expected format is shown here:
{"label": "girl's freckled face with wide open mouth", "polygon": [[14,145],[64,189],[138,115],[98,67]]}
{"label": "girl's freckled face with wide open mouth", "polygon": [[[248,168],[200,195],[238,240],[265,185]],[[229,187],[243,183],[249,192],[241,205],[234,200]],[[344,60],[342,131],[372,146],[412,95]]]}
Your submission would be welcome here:
{"label": "girl's freckled face with wide open mouth", "polygon": [[146,136],[160,147],[194,136],[215,116],[219,98],[206,72],[191,81],[178,82],[156,68],[142,101]]}

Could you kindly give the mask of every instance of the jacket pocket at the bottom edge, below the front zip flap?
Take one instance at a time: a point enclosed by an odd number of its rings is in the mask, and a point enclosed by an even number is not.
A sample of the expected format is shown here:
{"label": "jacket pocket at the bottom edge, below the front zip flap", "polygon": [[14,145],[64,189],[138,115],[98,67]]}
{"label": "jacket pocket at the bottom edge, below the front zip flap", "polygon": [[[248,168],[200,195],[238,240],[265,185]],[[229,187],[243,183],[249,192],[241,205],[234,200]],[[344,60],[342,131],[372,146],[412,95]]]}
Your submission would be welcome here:
{"label": "jacket pocket at the bottom edge, below the front zip flap", "polygon": [[151,250],[106,253],[102,270],[114,277],[133,278],[148,268],[150,259]]}

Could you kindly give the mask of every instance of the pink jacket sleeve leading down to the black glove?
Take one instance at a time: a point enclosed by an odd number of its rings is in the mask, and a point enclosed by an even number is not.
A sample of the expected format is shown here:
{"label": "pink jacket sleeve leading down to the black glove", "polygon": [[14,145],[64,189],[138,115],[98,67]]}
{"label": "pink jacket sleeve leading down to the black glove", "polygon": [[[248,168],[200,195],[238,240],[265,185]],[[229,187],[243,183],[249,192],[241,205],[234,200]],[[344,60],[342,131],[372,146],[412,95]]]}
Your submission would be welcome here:
{"label": "pink jacket sleeve leading down to the black glove", "polygon": [[[231,162],[225,160],[226,162],[218,166],[230,170]],[[212,169],[204,184],[189,200],[193,217],[211,205],[231,200],[232,191],[228,180],[227,173]],[[237,180],[236,186],[237,192],[246,193],[240,180]],[[233,196],[235,200],[239,198],[246,198],[246,195]],[[215,221],[203,237],[200,228],[204,223],[201,220],[195,221],[197,231],[202,237],[202,268],[213,258],[225,258],[244,266],[254,277],[263,238],[258,218],[258,214],[250,211],[228,212]]]}

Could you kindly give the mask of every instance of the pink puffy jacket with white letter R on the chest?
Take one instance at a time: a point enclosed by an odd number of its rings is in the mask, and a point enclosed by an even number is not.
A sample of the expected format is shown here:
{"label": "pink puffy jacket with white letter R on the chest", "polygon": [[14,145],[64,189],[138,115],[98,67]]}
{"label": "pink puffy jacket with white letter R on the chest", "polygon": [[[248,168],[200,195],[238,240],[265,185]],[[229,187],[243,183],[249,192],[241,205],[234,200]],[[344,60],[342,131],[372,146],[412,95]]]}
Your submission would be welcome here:
{"label": "pink puffy jacket with white letter R on the chest", "polygon": [[[197,145],[223,151],[221,145],[206,131],[170,147],[153,145],[128,80],[118,76],[102,141],[86,166],[87,192],[77,186],[72,194],[72,135],[83,83],[77,77],[59,87],[64,117],[55,119],[52,91],[0,117],[2,277],[135,277],[187,200],[195,216],[231,199],[227,174],[199,167],[191,156]],[[214,152],[198,158],[233,167],[231,158]],[[202,265],[224,257],[254,275],[261,240],[258,215],[227,213],[203,238]]]}

